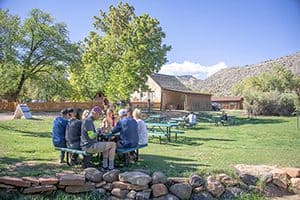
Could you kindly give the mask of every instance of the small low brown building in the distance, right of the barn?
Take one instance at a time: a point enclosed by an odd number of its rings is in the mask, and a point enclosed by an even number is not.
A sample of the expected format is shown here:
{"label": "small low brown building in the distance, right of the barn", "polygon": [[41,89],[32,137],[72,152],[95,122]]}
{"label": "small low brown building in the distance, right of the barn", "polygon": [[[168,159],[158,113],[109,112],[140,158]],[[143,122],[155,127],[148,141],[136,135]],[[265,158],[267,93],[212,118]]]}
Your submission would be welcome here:
{"label": "small low brown building in the distance, right of the barn", "polygon": [[212,96],[211,101],[220,104],[221,109],[243,109],[244,98],[241,96]]}

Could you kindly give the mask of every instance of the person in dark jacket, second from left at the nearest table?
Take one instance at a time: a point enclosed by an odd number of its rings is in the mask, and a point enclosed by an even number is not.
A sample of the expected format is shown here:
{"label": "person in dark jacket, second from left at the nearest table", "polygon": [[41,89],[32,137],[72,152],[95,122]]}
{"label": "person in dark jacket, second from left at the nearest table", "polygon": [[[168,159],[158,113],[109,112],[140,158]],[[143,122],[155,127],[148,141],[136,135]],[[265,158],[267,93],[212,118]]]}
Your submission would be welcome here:
{"label": "person in dark jacket, second from left at the nearest table", "polygon": [[[66,142],[70,149],[80,150],[80,136],[81,136],[81,119],[82,110],[80,108],[70,113],[71,119],[66,127]],[[71,163],[76,163],[78,154],[72,154]]]}

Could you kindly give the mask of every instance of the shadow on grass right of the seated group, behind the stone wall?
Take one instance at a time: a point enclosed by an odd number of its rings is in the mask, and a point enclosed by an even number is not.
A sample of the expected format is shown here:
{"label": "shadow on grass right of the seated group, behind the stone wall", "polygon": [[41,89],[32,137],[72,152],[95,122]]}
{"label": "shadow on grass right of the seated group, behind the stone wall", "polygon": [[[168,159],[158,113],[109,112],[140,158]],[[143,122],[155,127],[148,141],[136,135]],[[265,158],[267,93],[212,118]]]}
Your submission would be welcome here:
{"label": "shadow on grass right of the seated group, behind the stone wall", "polygon": [[130,164],[121,170],[146,169],[152,173],[161,171],[167,176],[183,176],[184,173],[190,173],[197,170],[198,167],[210,167],[210,165],[197,163],[196,160],[187,158],[178,158],[172,156],[141,155],[138,162]]}

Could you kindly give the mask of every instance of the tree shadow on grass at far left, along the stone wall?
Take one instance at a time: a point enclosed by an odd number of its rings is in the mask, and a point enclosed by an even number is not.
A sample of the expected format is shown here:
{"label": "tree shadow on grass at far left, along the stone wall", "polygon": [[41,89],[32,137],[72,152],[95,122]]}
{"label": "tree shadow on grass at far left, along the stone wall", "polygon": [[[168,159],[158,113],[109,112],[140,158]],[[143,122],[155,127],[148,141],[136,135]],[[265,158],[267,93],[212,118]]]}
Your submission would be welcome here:
{"label": "tree shadow on grass at far left, along the stone wall", "polygon": [[6,166],[0,165],[0,176],[55,176],[58,172],[82,172],[80,166],[74,166],[70,168],[67,164],[59,164],[53,162],[51,159],[35,159],[30,161],[24,157],[0,158],[1,163],[5,163]]}

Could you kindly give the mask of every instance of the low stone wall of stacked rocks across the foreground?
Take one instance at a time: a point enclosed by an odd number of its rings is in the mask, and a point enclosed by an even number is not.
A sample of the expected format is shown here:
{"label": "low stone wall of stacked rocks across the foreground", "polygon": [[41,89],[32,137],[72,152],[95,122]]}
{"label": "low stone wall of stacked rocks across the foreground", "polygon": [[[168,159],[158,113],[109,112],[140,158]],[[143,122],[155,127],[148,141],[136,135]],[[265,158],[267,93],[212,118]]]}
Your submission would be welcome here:
{"label": "low stone wall of stacked rocks across the foreground", "polygon": [[[0,177],[6,192],[34,194],[64,190],[66,193],[92,192],[107,199],[234,199],[246,193],[275,197],[300,193],[300,168],[235,166],[238,178],[226,174],[189,178],[169,177],[147,170],[121,173],[87,168],[83,174],[58,173],[54,177]],[[296,196],[300,197],[300,196]]]}

